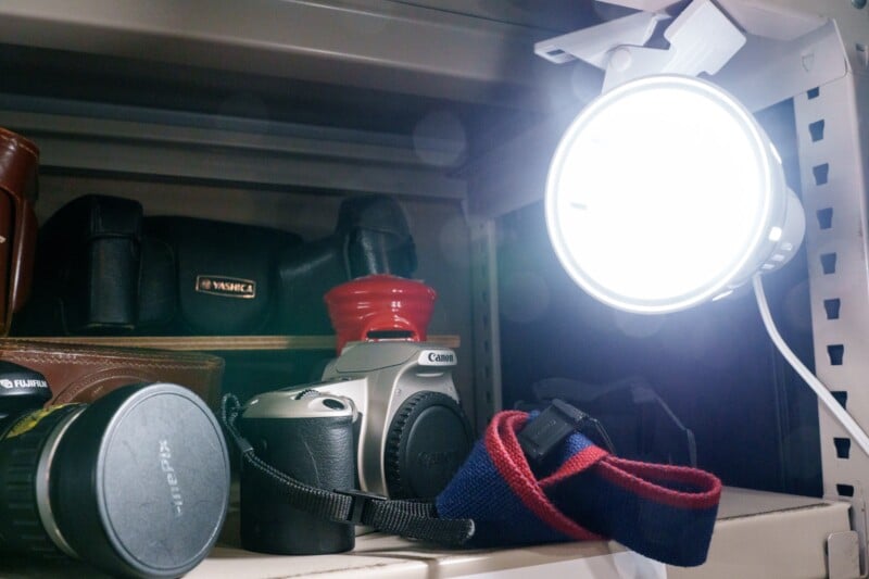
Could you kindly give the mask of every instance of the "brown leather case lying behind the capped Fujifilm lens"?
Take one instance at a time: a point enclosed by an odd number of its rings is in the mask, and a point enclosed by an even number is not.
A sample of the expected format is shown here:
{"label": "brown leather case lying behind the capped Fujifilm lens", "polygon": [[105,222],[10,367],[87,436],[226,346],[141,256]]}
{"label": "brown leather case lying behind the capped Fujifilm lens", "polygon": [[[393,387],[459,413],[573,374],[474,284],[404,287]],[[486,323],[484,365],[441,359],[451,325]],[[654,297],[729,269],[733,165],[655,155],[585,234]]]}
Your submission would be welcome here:
{"label": "brown leather case lying behind the capped Fujifilm lens", "polygon": [[0,340],[0,360],[41,373],[54,394],[49,404],[92,402],[129,383],[172,382],[212,408],[221,398],[224,360],[202,353]]}

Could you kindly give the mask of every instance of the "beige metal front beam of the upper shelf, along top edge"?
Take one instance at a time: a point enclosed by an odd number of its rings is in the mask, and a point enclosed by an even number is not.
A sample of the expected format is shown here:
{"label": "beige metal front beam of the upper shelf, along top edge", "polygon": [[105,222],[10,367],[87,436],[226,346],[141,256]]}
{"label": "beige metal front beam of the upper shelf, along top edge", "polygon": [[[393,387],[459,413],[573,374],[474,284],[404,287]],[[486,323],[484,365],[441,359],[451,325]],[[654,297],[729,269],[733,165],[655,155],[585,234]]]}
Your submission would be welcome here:
{"label": "beige metal front beam of the upper shelf, along top edge", "polygon": [[0,42],[419,97],[541,105],[533,42],[591,2],[9,0]]}

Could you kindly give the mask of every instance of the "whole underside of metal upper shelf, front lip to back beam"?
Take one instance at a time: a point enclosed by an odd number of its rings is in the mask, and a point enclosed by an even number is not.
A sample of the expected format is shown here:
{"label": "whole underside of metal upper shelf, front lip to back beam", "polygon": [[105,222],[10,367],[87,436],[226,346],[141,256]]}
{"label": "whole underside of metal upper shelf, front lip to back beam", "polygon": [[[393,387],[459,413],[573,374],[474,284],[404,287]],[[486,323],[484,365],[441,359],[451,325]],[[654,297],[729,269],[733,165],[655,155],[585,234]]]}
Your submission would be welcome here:
{"label": "whole underside of metal upper shelf, front lip to back beam", "polygon": [[[470,185],[482,200],[470,213],[492,216],[538,198],[541,181],[481,175],[488,153],[503,158],[504,143],[578,102],[577,76],[533,43],[613,10],[624,9],[9,0],[0,125],[37,142],[47,172],[461,201]],[[545,147],[520,149],[537,176]]]}

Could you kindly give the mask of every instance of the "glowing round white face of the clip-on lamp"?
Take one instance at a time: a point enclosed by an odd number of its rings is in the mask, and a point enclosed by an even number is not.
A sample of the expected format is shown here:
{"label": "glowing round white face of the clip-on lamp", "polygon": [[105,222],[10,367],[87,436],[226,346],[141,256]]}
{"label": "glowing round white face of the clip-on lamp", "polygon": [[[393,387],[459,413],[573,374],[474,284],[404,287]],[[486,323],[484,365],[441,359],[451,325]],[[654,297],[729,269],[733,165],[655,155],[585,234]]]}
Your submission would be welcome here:
{"label": "glowing round white face of the clip-on lamp", "polygon": [[730,95],[650,76],[599,97],[568,127],[550,167],[546,224],[589,293],[671,312],[751,275],[781,232],[785,193],[772,144]]}

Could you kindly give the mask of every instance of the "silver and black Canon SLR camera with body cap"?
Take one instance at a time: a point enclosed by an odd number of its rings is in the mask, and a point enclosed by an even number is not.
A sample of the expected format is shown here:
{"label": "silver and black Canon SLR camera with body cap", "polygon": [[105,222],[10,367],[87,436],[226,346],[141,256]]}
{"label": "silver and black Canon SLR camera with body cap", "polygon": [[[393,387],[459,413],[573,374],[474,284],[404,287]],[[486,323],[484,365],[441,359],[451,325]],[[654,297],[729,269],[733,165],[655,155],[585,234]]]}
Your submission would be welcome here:
{"label": "silver and black Canon SLR camera with body cap", "polygon": [[[249,400],[239,430],[261,458],[308,484],[432,499],[474,443],[453,385],[455,366],[453,350],[431,343],[351,342],[322,381]],[[310,554],[352,547],[352,528],[315,527],[312,515],[280,502],[242,465],[245,549]]]}

